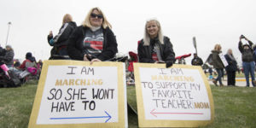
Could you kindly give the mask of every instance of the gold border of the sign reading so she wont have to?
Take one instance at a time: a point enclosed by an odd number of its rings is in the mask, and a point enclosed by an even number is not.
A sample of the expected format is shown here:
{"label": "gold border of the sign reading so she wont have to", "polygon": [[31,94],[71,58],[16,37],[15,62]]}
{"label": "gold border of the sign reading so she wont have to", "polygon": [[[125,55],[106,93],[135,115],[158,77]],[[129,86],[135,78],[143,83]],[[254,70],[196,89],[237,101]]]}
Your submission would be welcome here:
{"label": "gold border of the sign reading so she wont have to", "polygon": [[[125,116],[127,116],[127,114],[125,115],[126,112],[124,112],[123,110],[125,110],[126,108],[126,102],[125,100],[122,100],[125,98],[125,96],[123,95],[125,92],[125,84],[123,82],[123,75],[118,75],[118,88],[119,88],[119,123],[90,123],[90,124],[56,124],[56,125],[37,125],[37,119],[38,119],[38,113],[39,113],[39,109],[40,109],[40,104],[41,104],[41,100],[42,100],[42,96],[43,96],[43,91],[44,91],[44,84],[45,84],[45,80],[46,80],[46,75],[48,73],[48,67],[49,65],[55,65],[55,66],[63,66],[63,65],[77,65],[77,66],[90,66],[90,62],[87,61],[44,61],[44,66],[42,69],[42,73],[41,73],[41,77],[39,79],[38,82],[38,89],[36,92],[36,96],[34,99],[34,103],[32,106],[32,113],[29,119],[29,124],[28,124],[28,128],[69,128],[69,127],[73,127],[73,128],[79,128],[79,127],[102,127],[102,125],[104,125],[104,127],[125,127],[125,122],[126,119],[128,119],[128,117],[125,118]],[[124,71],[124,66],[122,64],[122,62],[94,62],[92,64],[92,66],[94,67],[118,67],[118,72],[123,74]],[[124,79],[125,80],[125,79]],[[127,109],[127,108],[126,108]],[[128,124],[127,124],[128,125]]]}

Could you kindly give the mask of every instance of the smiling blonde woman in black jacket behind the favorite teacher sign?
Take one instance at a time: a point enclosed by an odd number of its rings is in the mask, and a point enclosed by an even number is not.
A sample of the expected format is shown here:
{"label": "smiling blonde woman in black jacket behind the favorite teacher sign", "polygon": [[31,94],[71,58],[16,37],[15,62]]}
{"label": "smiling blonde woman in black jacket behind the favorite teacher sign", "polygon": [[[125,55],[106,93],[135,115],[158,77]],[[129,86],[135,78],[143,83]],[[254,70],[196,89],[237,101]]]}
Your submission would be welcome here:
{"label": "smiling blonde woman in black jacket behind the favorite teacher sign", "polygon": [[166,62],[166,67],[172,66],[175,61],[172,43],[169,38],[162,35],[158,20],[147,21],[144,38],[138,44],[137,53],[140,62]]}

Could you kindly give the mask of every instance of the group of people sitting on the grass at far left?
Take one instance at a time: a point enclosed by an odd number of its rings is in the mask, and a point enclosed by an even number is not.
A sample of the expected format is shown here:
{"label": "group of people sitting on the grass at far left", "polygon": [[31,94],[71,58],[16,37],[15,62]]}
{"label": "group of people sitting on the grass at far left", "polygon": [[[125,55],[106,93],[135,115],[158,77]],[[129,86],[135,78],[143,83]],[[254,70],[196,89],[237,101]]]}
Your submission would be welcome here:
{"label": "group of people sitting on the grass at far left", "polygon": [[8,87],[9,84],[12,84],[10,87],[15,87],[13,84],[26,82],[26,77],[30,74],[40,75],[43,62],[42,60],[37,62],[31,52],[26,53],[26,60],[21,64],[14,57],[15,50],[11,45],[6,45],[5,49],[0,46],[0,87],[3,85]]}

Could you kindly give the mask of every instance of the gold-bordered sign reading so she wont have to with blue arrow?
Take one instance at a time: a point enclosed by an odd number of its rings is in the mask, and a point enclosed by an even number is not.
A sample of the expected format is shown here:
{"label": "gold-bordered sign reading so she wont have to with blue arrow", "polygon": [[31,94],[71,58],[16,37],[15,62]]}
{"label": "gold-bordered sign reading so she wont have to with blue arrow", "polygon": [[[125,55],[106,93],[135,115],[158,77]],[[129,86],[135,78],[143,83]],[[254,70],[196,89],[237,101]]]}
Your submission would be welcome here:
{"label": "gold-bordered sign reading so she wont have to with blue arrow", "polygon": [[123,63],[44,61],[28,127],[127,127],[125,92]]}

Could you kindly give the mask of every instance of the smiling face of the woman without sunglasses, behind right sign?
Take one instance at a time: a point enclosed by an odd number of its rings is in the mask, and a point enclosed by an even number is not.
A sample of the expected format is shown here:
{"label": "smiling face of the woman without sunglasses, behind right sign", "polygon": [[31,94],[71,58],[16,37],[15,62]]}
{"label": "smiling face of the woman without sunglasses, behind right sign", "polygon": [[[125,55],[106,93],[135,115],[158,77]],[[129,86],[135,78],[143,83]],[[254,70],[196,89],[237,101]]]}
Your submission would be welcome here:
{"label": "smiling face of the woman without sunglasses, behind right sign", "polygon": [[147,27],[147,32],[148,32],[148,35],[149,35],[150,38],[157,37],[159,28],[158,28],[158,26],[157,26],[157,24],[154,20],[148,21],[146,27]]}

